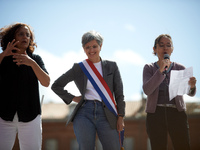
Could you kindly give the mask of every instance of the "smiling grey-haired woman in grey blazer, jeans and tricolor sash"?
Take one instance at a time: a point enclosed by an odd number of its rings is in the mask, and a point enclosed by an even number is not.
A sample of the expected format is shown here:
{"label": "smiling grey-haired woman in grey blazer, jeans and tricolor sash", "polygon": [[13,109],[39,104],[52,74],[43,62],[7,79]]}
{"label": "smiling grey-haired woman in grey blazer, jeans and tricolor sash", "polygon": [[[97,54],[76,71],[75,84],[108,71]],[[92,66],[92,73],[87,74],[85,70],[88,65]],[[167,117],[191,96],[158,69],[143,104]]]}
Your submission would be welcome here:
{"label": "smiling grey-haired woman in grey blazer, jeans and tricolor sash", "polygon": [[[96,31],[82,36],[87,59],[75,63],[53,84],[52,90],[68,105],[77,105],[67,124],[73,122],[80,150],[94,150],[96,134],[104,150],[120,150],[120,131],[124,128],[123,84],[116,62],[102,60],[103,37]],[[81,96],[64,87],[74,81]]]}

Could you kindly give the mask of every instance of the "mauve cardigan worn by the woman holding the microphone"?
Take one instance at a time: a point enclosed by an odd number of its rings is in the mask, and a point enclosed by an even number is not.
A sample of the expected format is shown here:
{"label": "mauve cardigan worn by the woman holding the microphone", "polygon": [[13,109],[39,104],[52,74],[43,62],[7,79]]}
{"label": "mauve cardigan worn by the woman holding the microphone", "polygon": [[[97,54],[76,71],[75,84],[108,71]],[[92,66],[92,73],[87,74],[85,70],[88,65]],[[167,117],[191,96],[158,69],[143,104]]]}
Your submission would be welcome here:
{"label": "mauve cardigan worn by the woman holding the microphone", "polygon": [[[170,81],[170,73],[171,70],[184,70],[185,67],[181,64],[173,62],[173,66],[169,69],[167,76],[168,80]],[[147,113],[154,113],[156,110],[156,106],[160,102],[159,99],[159,86],[163,81],[166,79],[166,74],[163,74],[159,71],[159,67],[156,63],[146,64],[143,68],[143,91],[147,95],[147,103],[146,103],[146,112]],[[195,91],[189,93],[189,96],[194,96],[196,94]],[[160,96],[163,96],[160,94]],[[186,105],[183,100],[183,96],[176,96],[173,100],[175,103],[178,111],[186,110]]]}

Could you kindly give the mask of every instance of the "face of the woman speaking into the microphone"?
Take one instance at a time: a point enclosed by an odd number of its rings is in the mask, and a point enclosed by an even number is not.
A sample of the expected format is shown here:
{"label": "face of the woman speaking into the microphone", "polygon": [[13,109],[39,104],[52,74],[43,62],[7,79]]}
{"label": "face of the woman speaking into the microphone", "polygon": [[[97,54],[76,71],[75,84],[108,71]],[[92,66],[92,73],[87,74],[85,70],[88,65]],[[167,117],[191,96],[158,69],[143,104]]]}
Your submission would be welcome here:
{"label": "face of the woman speaking into the microphone", "polygon": [[173,52],[172,41],[167,37],[162,37],[160,42],[156,45],[156,48],[153,48],[154,52],[158,56],[159,60],[164,59],[164,54],[168,54],[169,56]]}

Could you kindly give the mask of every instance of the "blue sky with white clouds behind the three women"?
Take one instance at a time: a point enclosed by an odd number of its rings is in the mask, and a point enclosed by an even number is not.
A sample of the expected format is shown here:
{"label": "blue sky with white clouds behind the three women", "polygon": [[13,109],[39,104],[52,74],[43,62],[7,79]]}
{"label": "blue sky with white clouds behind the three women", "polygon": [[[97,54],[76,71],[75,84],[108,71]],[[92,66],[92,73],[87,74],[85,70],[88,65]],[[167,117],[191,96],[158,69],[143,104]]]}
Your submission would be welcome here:
{"label": "blue sky with white clouds behind the three women", "polygon": [[[0,0],[0,27],[23,22],[34,29],[37,49],[51,77],[51,84],[86,58],[81,37],[96,30],[104,37],[103,59],[116,61],[124,83],[125,100],[139,100],[142,71],[157,61],[152,54],[155,38],[163,33],[173,39],[171,61],[193,67],[200,82],[200,1],[198,0]],[[66,89],[75,95],[74,84]],[[44,102],[62,102],[41,87]],[[185,98],[189,100],[189,97]],[[200,93],[194,98],[200,101]]]}

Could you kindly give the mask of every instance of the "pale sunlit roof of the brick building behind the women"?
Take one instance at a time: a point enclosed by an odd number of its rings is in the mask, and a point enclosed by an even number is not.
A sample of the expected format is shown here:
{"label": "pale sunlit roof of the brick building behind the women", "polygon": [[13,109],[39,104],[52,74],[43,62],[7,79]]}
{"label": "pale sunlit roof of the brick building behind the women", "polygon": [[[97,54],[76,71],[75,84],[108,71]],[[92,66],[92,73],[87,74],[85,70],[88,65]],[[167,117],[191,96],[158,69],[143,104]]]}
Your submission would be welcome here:
{"label": "pale sunlit roof of the brick building behind the women", "polygon": [[[140,117],[145,114],[145,103],[142,101],[125,101],[125,118]],[[186,103],[187,114],[200,114],[199,103]],[[44,103],[42,105],[43,120],[63,120],[72,112],[75,103],[66,105],[65,103]]]}

